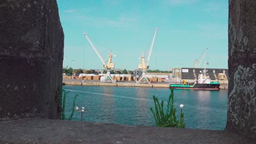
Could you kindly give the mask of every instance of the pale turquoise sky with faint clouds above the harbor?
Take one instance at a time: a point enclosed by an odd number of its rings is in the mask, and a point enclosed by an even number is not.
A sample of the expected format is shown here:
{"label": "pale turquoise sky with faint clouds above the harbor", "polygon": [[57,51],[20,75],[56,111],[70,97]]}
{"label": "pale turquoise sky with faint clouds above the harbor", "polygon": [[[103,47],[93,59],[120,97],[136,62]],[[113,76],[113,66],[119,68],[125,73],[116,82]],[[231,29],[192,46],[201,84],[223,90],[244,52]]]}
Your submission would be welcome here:
{"label": "pale turquoise sky with faint clouds above the harbor", "polygon": [[[149,69],[228,68],[228,1],[57,0],[65,34],[63,67],[103,69],[111,49],[115,69],[135,70],[158,31]],[[66,57],[66,58],[65,58]],[[72,62],[73,61],[73,62]]]}

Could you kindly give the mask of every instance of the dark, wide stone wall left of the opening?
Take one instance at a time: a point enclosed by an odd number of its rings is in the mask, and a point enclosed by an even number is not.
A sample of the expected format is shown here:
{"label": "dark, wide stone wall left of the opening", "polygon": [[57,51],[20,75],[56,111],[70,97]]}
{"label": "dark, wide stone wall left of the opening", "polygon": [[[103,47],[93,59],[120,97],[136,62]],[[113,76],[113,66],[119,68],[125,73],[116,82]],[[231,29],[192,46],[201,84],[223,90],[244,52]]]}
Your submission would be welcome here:
{"label": "dark, wide stone wall left of the opening", "polygon": [[61,118],[63,45],[56,0],[0,1],[0,121]]}

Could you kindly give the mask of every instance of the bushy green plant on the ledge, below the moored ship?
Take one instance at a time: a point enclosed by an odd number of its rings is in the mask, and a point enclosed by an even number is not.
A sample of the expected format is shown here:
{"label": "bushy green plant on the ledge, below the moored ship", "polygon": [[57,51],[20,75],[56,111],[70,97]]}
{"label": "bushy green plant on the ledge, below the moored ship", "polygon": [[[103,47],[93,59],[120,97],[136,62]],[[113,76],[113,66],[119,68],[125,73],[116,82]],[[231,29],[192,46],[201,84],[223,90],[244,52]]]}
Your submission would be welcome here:
{"label": "bushy green plant on the ledge, below the moored ship", "polygon": [[171,94],[167,100],[167,106],[165,107],[164,100],[160,101],[153,95],[155,107],[150,107],[150,111],[153,113],[156,127],[176,127],[185,128],[184,113],[179,115],[179,119],[176,116],[176,109],[174,108],[174,92],[171,89]]}

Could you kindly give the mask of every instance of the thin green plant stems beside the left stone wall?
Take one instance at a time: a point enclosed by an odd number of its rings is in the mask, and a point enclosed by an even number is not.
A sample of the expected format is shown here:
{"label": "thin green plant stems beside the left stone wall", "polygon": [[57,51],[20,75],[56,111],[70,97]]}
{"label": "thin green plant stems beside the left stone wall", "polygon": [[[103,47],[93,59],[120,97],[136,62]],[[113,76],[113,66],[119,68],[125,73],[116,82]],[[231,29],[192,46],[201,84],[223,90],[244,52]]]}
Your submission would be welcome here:
{"label": "thin green plant stems beside the left stone wall", "polygon": [[[65,91],[65,89],[62,90],[62,111],[61,111],[61,119],[66,120],[66,99],[67,99],[67,94],[69,92]],[[75,101],[77,100],[77,96],[74,96],[73,102],[72,102],[72,108],[71,108],[71,115],[67,118],[67,120],[72,120],[74,116],[74,111],[75,111]]]}

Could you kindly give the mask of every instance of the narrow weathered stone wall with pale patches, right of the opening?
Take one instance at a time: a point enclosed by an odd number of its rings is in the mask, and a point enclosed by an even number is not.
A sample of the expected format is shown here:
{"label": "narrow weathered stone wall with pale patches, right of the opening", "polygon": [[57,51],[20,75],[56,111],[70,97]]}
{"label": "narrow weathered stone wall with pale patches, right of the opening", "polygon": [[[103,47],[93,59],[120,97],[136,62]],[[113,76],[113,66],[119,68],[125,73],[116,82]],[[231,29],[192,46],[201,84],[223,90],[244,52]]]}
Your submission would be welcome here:
{"label": "narrow weathered stone wall with pale patches, right of the opening", "polygon": [[229,0],[226,129],[256,140],[256,1]]}

